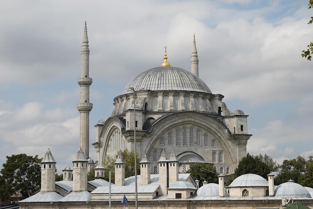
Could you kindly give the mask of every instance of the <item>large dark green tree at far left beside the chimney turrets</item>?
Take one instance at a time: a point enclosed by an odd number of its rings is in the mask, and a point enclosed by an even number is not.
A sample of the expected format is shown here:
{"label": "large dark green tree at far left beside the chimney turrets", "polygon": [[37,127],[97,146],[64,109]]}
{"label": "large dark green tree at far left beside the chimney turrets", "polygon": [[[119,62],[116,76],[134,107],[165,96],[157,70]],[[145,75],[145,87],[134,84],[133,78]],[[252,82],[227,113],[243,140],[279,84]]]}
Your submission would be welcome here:
{"label": "large dark green tree at far left beside the chimney turrets", "polygon": [[40,161],[38,155],[6,156],[6,162],[0,171],[0,198],[9,200],[16,192],[27,198],[40,189]]}

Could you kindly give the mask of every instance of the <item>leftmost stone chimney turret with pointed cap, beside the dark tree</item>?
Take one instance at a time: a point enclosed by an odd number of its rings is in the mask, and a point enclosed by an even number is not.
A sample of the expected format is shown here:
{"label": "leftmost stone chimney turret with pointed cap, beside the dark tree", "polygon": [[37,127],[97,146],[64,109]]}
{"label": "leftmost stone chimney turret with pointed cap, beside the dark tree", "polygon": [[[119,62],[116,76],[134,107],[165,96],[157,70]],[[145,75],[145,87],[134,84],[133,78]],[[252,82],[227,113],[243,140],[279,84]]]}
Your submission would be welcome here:
{"label": "leftmost stone chimney turret with pointed cap, beside the dark tree", "polygon": [[41,189],[40,191],[55,191],[55,160],[47,149],[41,164]]}

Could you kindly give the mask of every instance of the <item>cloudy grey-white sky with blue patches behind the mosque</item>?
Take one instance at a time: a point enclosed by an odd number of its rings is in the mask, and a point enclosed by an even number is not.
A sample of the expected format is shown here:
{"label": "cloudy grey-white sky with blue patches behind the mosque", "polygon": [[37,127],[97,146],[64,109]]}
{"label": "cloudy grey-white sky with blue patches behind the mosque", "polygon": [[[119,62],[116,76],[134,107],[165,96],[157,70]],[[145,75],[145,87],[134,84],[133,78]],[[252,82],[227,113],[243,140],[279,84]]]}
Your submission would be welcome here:
{"label": "cloudy grey-white sky with blue patches behind the mosque", "polygon": [[79,146],[80,47],[90,48],[93,125],[106,119],[135,75],[168,62],[190,69],[248,114],[250,154],[277,162],[313,155],[313,70],[300,56],[313,40],[308,0],[1,0],[0,164],[50,148],[60,172]]}

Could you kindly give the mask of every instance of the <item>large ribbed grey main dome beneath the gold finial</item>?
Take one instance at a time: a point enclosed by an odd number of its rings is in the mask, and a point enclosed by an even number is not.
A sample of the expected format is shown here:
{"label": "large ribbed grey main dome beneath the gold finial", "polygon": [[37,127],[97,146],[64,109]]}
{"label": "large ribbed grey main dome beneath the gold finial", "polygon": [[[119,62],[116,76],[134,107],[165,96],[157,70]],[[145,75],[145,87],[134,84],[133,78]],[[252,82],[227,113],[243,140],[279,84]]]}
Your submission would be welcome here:
{"label": "large ribbed grey main dome beneath the gold finial", "polygon": [[186,90],[211,93],[207,85],[196,75],[178,67],[165,66],[148,69],[133,78],[122,94],[132,92],[130,87],[144,90]]}

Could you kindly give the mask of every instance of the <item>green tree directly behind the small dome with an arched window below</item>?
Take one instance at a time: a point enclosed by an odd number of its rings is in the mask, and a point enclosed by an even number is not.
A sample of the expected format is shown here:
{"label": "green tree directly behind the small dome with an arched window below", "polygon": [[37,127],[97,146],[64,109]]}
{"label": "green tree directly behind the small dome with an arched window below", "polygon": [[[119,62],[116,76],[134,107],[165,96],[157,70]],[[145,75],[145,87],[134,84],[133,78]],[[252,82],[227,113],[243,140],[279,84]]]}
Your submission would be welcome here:
{"label": "green tree directly behind the small dome with an arched window below", "polygon": [[276,161],[266,154],[264,156],[262,154],[256,156],[247,154],[239,161],[234,172],[235,177],[246,173],[254,173],[267,179],[267,174],[276,170],[277,167]]}

